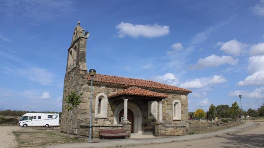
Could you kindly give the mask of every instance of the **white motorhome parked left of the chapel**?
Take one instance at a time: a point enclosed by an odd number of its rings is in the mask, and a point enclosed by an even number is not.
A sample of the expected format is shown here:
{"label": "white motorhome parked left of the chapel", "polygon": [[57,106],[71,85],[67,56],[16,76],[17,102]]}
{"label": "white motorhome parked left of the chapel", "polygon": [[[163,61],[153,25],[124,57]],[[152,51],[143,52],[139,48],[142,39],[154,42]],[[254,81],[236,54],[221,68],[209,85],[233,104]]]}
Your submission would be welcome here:
{"label": "white motorhome parked left of the chapel", "polygon": [[59,126],[59,114],[26,113],[19,120],[19,126]]}

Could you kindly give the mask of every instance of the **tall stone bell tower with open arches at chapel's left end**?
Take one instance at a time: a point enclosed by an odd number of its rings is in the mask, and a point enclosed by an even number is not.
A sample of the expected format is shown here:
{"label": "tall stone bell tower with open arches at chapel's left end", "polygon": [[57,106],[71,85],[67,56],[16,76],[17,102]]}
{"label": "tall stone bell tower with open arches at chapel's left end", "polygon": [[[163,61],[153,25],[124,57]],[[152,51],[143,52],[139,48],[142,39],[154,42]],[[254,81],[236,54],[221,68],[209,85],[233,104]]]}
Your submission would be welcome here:
{"label": "tall stone bell tower with open arches at chapel's left end", "polygon": [[[75,91],[77,95],[83,94],[80,97],[82,103],[79,104],[78,109],[83,106],[87,106],[88,101],[88,85],[87,85],[87,66],[86,66],[86,42],[87,36],[84,34],[84,29],[80,26],[78,21],[75,26],[70,47],[68,48],[67,66],[64,77],[64,88],[62,98],[62,111],[61,111],[61,131],[67,132],[67,128],[70,127],[70,133],[76,134],[76,122],[79,122],[78,112],[76,109],[72,110],[72,118],[70,120],[70,111],[65,108],[69,104],[65,102],[68,94],[71,91]],[[83,108],[86,109],[87,107]],[[88,119],[87,119],[88,120]],[[74,126],[75,125],[75,126]]]}

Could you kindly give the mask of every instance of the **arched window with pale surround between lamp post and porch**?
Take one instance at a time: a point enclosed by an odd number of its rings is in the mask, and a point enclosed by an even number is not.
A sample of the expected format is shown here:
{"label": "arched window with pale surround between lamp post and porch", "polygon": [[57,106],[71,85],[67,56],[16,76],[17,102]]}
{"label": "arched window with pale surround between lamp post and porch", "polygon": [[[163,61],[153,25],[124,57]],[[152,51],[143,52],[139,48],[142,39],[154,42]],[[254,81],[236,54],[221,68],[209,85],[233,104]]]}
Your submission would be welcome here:
{"label": "arched window with pale surround between lamp post and porch", "polygon": [[95,97],[95,118],[107,118],[108,98],[104,93]]}

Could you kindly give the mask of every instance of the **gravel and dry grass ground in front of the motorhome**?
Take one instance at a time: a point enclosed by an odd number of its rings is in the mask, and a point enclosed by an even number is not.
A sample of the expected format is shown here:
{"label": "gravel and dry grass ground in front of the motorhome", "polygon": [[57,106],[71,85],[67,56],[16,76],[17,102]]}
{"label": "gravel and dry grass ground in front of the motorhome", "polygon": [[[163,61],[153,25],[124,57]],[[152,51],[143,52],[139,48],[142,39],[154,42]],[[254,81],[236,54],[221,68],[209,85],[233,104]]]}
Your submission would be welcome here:
{"label": "gravel and dry grass ground in front of the motorhome", "polygon": [[85,138],[61,133],[59,127],[0,126],[0,148],[32,147],[39,145],[85,142]]}

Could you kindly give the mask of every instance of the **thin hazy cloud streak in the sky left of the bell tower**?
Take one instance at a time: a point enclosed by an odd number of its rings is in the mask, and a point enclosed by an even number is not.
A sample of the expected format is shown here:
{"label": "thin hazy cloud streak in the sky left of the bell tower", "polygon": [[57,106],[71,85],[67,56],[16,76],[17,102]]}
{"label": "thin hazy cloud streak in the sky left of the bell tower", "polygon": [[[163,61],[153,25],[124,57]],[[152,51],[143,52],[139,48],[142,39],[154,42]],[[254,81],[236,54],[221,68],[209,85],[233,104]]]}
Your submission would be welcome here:
{"label": "thin hazy cloud streak in the sky left of the bell tower", "polygon": [[41,85],[51,85],[55,77],[47,69],[38,67],[9,69],[9,71],[12,71],[18,77],[29,79]]}

